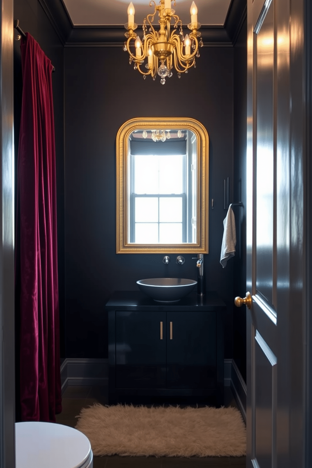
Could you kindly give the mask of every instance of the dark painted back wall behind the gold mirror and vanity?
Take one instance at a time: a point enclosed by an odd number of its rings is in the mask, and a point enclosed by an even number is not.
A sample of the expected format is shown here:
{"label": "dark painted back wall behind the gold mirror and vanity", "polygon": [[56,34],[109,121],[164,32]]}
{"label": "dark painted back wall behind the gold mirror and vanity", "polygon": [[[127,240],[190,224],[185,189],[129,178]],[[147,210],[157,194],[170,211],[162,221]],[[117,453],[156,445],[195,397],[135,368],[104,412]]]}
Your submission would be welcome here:
{"label": "dark painted back wall behind the gold mirror and vanity", "polygon": [[[224,179],[233,187],[233,48],[204,47],[196,69],[161,85],[143,80],[122,47],[65,47],[66,357],[105,358],[114,290],[159,276],[196,279],[192,255],[116,255],[116,133],[133,117],[192,117],[210,137],[207,289],[225,300],[225,357],[232,357],[233,260],[222,269]],[[170,174],[174,177],[174,174]],[[230,194],[230,201],[233,193]],[[211,209],[211,198],[214,209]]]}

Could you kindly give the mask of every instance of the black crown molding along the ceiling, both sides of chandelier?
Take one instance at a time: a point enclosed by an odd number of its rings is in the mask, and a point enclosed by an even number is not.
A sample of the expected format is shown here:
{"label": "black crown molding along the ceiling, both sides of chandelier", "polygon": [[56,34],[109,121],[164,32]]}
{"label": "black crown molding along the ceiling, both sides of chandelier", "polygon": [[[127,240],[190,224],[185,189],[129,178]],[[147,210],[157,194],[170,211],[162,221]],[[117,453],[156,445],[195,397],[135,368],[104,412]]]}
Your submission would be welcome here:
{"label": "black crown molding along the ceiling, both sides of chandelier", "polygon": [[[62,0],[38,0],[65,47],[114,47],[124,43],[123,26],[73,26]],[[232,0],[224,26],[202,26],[203,44],[232,46],[247,15],[247,0]]]}

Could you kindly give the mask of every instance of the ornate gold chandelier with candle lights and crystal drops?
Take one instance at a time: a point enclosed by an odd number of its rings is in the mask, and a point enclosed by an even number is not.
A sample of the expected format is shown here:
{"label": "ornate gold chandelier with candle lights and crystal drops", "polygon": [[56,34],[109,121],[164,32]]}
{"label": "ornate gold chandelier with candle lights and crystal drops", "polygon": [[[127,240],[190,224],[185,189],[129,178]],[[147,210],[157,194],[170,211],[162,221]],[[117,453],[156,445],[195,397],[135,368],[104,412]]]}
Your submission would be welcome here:
{"label": "ornate gold chandelier with candle lights and crystal drops", "polygon": [[[138,37],[134,32],[138,25],[134,22],[134,7],[132,2],[128,7],[128,22],[124,25],[127,32],[124,34],[127,41],[124,43],[124,51],[128,51],[130,55],[130,64],[134,63],[134,69],[138,70],[145,79],[146,75],[151,75],[152,79],[156,79],[156,75],[160,76],[160,83],[165,84],[166,78],[172,76],[172,68],[178,72],[178,77],[181,73],[188,73],[189,68],[196,67],[195,57],[199,57],[198,46],[203,46],[203,40],[198,32],[200,23],[197,22],[197,8],[193,1],[190,13],[191,22],[188,28],[191,30],[189,35],[184,38],[182,30],[182,22],[179,16],[175,15],[175,11],[171,8],[172,0],[160,0],[160,5],[156,5],[154,0],[150,1],[150,7],[154,5],[154,13],[147,15],[143,22],[143,39]],[[175,0],[174,0],[175,7]],[[160,29],[156,31],[152,26],[154,16],[158,12]],[[171,22],[173,29],[170,30]],[[148,24],[146,24],[148,23]],[[147,28],[149,32],[147,33]],[[176,33],[179,28],[179,33]],[[131,41],[134,41],[135,55],[131,52]],[[184,46],[184,47],[183,47]],[[184,49],[184,50],[183,50]],[[145,63],[145,70],[141,70],[141,66]]]}

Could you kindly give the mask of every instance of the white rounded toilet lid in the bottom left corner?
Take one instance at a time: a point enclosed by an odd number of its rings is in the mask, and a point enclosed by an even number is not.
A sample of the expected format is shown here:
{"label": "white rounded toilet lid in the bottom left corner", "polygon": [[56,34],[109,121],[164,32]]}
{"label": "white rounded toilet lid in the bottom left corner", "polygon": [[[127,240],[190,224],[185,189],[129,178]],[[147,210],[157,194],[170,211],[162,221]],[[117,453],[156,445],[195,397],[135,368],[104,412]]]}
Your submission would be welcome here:
{"label": "white rounded toilet lid in the bottom left corner", "polygon": [[56,423],[15,423],[16,468],[91,468],[89,439],[77,429]]}

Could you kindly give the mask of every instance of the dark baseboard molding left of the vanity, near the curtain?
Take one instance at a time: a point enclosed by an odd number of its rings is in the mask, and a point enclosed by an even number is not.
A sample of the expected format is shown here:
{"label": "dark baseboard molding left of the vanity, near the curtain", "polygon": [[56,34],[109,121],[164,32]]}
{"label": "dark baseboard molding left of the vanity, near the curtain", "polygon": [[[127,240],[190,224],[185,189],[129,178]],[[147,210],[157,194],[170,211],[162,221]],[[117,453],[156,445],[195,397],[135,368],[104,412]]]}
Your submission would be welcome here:
{"label": "dark baseboard molding left of the vanity, near the curtain", "polygon": [[70,359],[61,365],[62,394],[68,385],[108,385],[108,359]]}

